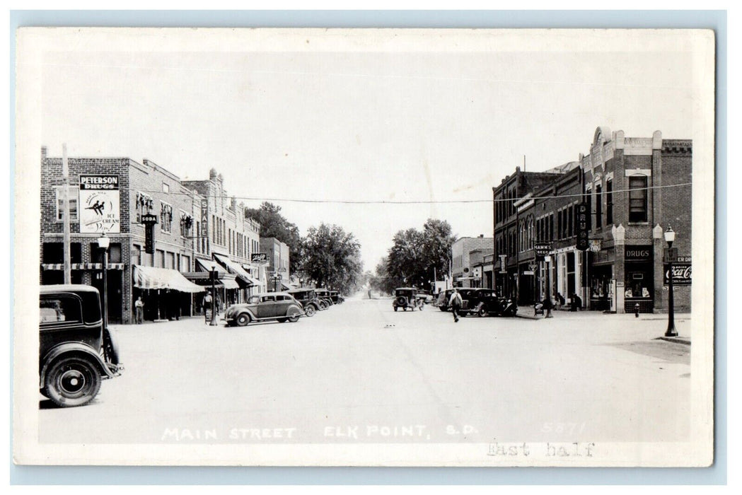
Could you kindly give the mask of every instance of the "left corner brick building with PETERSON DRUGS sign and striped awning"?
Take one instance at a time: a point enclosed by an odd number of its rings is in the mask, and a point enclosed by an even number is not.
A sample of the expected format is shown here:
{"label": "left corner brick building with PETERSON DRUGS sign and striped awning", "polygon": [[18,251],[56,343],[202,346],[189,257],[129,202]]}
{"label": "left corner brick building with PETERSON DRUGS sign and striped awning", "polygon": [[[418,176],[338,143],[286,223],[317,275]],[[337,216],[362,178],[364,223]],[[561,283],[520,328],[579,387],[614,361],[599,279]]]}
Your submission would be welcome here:
{"label": "left corner brick building with PETERSON DRUGS sign and striped awning", "polygon": [[[62,283],[63,208],[62,158],[41,157],[41,283]],[[97,238],[102,232],[81,232],[82,209],[78,205],[79,180],[85,175],[117,178],[119,232],[109,232],[108,317],[131,323],[134,300],[142,295],[145,318],[189,315],[197,286],[183,278],[191,269],[193,240],[190,238],[194,204],[191,194],[181,194],[180,180],[165,169],[127,157],[68,159],[70,182],[70,262],[72,283],[85,283],[102,291],[102,250]],[[114,206],[115,208],[115,206]],[[157,214],[154,255],[145,254],[142,214]],[[88,230],[87,228],[85,230]],[[168,314],[169,313],[169,314]]]}

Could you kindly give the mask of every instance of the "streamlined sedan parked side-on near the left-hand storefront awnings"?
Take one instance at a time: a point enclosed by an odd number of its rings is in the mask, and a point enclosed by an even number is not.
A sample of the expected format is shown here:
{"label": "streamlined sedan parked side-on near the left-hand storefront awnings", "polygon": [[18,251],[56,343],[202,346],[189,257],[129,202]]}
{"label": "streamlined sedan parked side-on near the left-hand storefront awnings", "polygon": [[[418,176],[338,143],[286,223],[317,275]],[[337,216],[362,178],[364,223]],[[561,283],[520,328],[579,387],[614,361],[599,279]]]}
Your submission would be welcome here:
{"label": "streamlined sedan parked side-on near the left-hand storefront awnings", "polygon": [[232,304],[224,312],[224,320],[228,327],[245,327],[254,321],[295,323],[304,314],[301,303],[289,292],[266,292],[250,296],[246,303]]}

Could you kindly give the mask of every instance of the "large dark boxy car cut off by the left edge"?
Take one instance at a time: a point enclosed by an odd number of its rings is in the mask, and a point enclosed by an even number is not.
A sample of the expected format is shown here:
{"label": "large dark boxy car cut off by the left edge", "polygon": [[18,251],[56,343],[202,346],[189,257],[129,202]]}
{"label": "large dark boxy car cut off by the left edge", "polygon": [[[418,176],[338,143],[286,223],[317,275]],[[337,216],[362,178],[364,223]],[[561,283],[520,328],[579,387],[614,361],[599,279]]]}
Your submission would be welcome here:
{"label": "large dark boxy car cut off by the left edge", "polygon": [[45,285],[39,292],[39,390],[59,407],[88,404],[102,380],[123,370],[98,289]]}

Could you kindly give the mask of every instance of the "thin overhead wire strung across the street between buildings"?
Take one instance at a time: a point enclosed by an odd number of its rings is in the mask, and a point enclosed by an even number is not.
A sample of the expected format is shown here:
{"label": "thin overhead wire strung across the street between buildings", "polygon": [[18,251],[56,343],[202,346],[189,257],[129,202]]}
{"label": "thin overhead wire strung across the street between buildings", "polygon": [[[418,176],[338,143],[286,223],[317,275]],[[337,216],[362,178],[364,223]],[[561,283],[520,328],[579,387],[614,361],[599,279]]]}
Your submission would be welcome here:
{"label": "thin overhead wire strung across the street between buildings", "polygon": [[[631,189],[615,189],[614,191],[611,191],[610,194],[615,194],[618,192],[629,192],[629,191],[649,191],[650,189],[668,189],[672,187],[683,187],[683,186],[691,186],[692,183],[682,183],[682,184],[669,184],[667,186],[648,186],[648,187],[635,187]],[[145,192],[145,193],[162,193],[162,191],[159,190],[146,190],[146,189],[139,189],[139,192]],[[605,194],[609,194],[608,191],[603,191]],[[505,198],[498,198],[498,199],[489,199],[489,200],[425,200],[425,201],[417,201],[417,200],[410,200],[410,201],[389,201],[389,200],[296,200],[296,199],[287,199],[287,198],[279,198],[279,197],[247,197],[247,196],[231,196],[229,194],[220,196],[218,194],[201,194],[201,193],[188,193],[188,192],[168,192],[165,194],[180,194],[183,196],[193,196],[194,194],[201,197],[234,197],[235,200],[244,200],[244,201],[269,201],[269,202],[276,202],[276,203],[326,203],[326,204],[344,204],[344,205],[429,205],[429,204],[453,204],[453,203],[492,203],[492,202],[508,202],[508,201],[518,201],[518,200],[548,200],[550,198],[554,197],[582,197],[584,194],[549,194],[548,196],[529,196],[529,197],[510,197],[508,199]]]}

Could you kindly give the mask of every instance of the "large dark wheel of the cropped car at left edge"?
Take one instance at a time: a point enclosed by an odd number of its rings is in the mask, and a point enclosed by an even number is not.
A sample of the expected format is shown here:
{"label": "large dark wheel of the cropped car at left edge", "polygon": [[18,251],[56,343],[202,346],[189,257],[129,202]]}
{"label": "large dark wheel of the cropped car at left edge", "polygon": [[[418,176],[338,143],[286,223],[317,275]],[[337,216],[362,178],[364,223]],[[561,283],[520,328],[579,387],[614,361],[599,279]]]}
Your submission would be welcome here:
{"label": "large dark wheel of the cropped car at left edge", "polygon": [[47,373],[45,393],[59,407],[88,404],[100,390],[100,372],[82,356],[61,358]]}

